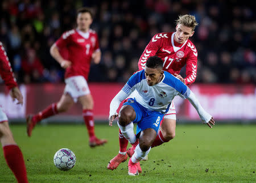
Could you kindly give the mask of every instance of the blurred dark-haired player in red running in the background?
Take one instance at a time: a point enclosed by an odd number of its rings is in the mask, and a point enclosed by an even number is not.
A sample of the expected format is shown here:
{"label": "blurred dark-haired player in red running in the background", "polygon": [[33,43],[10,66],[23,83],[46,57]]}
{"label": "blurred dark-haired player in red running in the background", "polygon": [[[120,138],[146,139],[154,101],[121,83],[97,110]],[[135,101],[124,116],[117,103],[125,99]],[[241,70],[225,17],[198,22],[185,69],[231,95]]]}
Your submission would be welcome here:
{"label": "blurred dark-haired player in red running in the background", "polygon": [[[92,12],[87,8],[80,8],[77,11],[77,28],[63,33],[51,46],[52,57],[65,69],[66,86],[57,103],[49,105],[35,116],[27,117],[29,137],[37,122],[65,112],[79,101],[82,104],[82,115],[89,133],[89,146],[100,146],[107,142],[105,139],[98,139],[94,133],[93,98],[86,82],[91,60],[99,63],[101,59],[97,33],[90,29],[92,21]],[[63,56],[61,53],[64,53]]]}

